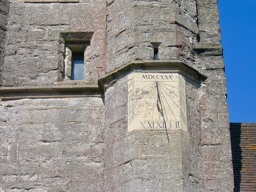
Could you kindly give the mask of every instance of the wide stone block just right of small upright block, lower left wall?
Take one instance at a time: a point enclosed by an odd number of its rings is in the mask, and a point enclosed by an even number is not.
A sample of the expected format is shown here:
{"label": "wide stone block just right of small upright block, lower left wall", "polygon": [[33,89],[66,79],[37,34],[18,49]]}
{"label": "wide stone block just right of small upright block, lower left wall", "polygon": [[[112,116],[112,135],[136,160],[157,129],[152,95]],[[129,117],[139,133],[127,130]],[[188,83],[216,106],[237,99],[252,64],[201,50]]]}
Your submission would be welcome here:
{"label": "wide stone block just right of small upright block, lower left wall", "polygon": [[26,142],[20,144],[20,160],[26,162],[63,161],[64,143]]}

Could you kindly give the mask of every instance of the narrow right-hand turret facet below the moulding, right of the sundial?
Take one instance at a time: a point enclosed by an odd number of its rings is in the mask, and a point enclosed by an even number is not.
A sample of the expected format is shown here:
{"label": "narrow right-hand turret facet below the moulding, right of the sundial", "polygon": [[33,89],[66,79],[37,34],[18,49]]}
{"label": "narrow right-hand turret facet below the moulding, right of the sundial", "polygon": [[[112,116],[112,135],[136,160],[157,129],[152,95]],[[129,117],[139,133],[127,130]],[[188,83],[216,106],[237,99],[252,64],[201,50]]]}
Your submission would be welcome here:
{"label": "narrow right-hand turret facet below the moulding, right of the sundial", "polygon": [[181,133],[184,191],[206,191],[204,186],[200,83],[186,79],[187,132]]}

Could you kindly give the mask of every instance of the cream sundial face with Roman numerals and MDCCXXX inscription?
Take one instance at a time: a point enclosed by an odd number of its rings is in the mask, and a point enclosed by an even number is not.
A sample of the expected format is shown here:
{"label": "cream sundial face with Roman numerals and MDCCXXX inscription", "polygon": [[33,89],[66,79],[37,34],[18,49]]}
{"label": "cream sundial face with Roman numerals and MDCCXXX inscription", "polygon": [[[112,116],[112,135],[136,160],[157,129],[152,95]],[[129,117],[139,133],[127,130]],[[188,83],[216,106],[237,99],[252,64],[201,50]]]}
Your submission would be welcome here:
{"label": "cream sundial face with Roman numerals and MDCCXXX inscription", "polygon": [[186,82],[177,73],[128,75],[128,131],[186,131]]}

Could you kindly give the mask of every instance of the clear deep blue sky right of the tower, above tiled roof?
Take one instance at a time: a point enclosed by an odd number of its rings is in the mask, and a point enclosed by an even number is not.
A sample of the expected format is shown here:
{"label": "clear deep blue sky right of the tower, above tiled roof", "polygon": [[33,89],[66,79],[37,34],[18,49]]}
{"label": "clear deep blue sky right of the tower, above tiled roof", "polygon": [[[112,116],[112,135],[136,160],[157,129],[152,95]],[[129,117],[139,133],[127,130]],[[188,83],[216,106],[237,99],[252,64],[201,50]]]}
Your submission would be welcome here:
{"label": "clear deep blue sky right of the tower, above tiled roof", "polygon": [[256,122],[256,0],[218,0],[230,122]]}

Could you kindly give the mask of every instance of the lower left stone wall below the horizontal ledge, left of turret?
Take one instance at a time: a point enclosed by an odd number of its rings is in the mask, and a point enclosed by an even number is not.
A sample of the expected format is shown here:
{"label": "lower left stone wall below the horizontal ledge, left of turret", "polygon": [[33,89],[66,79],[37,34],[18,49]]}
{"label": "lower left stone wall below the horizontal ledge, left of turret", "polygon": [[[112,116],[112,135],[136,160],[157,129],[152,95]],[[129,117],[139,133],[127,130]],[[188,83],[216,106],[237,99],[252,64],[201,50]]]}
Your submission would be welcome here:
{"label": "lower left stone wall below the horizontal ledge, left of turret", "polygon": [[104,191],[101,98],[0,102],[0,191]]}

